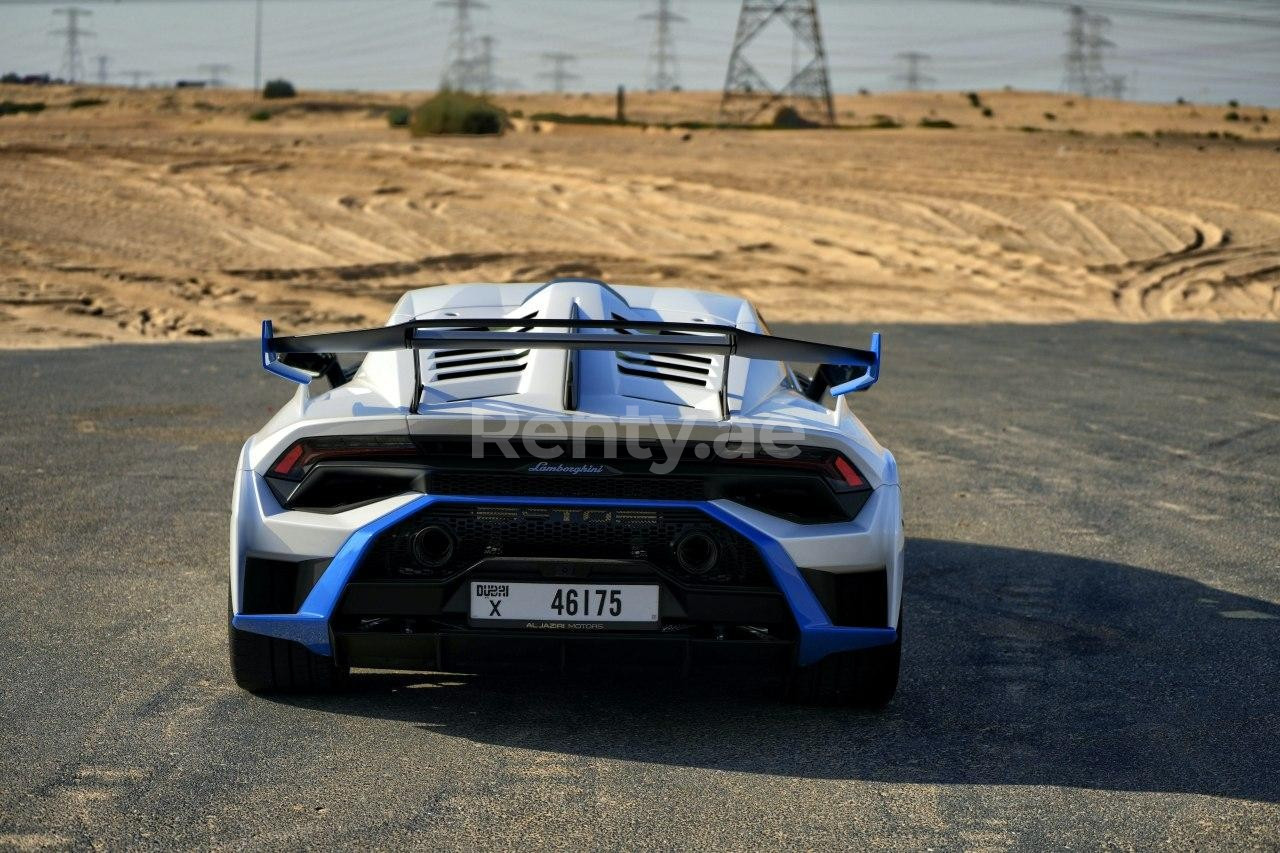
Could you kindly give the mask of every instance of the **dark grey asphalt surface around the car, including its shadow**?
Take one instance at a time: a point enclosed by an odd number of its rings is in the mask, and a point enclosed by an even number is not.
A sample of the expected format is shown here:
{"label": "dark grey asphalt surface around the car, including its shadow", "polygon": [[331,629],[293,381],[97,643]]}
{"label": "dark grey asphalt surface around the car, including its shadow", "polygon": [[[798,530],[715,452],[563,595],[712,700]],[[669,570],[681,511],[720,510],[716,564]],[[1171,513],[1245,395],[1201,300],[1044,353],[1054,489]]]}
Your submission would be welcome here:
{"label": "dark grey asphalt surface around the car, including its shadow", "polygon": [[[867,329],[808,328],[863,341]],[[0,353],[0,847],[1280,845],[1280,327],[890,327],[904,679],[227,672],[255,346]]]}

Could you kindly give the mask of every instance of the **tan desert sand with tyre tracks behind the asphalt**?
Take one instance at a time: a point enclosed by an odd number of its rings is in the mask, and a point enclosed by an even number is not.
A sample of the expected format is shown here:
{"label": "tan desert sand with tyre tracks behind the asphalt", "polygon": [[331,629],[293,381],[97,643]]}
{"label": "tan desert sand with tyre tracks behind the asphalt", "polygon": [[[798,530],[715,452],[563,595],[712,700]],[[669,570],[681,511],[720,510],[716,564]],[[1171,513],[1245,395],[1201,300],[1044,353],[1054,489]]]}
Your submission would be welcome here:
{"label": "tan desert sand with tyre tracks behind the asphalt", "polygon": [[918,92],[841,97],[852,129],[741,131],[534,122],[613,95],[511,95],[502,137],[388,127],[420,97],[0,87],[49,105],[0,117],[0,346],[379,324],[411,287],[566,274],[776,321],[1280,318],[1280,114],[1256,106]]}

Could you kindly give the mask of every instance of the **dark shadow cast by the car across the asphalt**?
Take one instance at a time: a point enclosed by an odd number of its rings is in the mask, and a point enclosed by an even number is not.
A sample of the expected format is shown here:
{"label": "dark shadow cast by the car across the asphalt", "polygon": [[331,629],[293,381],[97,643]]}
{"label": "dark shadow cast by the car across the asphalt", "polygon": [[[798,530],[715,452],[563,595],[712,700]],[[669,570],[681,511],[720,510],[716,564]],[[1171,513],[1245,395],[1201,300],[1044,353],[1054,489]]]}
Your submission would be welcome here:
{"label": "dark shadow cast by the car across the asphalt", "polygon": [[357,675],[279,698],[485,744],[809,779],[1280,799],[1280,607],[1066,555],[913,539],[902,681],[881,712],[773,685]]}

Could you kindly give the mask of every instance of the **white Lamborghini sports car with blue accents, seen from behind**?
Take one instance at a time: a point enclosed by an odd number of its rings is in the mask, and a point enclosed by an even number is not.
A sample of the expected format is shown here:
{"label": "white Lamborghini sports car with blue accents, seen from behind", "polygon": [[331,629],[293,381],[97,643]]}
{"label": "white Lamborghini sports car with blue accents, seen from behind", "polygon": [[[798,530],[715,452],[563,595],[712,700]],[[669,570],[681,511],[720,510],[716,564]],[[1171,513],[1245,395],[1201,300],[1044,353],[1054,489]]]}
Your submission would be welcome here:
{"label": "white Lamborghini sports car with blue accents, seen from behind", "polygon": [[378,329],[265,321],[262,365],[300,387],[236,476],[241,686],[740,666],[801,701],[892,698],[897,466],[845,397],[878,379],[878,334],[794,341],[740,298],[558,279],[412,291]]}

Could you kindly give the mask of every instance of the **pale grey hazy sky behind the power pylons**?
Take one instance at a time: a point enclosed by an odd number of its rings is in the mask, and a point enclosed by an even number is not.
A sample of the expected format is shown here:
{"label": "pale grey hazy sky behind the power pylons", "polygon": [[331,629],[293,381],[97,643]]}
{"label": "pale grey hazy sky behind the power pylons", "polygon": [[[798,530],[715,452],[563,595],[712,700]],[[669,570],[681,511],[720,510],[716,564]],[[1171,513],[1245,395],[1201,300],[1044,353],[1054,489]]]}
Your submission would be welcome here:
{"label": "pale grey hazy sky behind the power pylons", "polygon": [[[69,1],[69,0],[68,0]],[[82,0],[83,1],[83,0]],[[0,0],[0,70],[59,73],[63,26],[52,3]],[[252,0],[116,0],[87,3],[88,78],[93,56],[113,76],[143,69],[154,81],[200,77],[198,65],[229,63],[228,81],[252,82]],[[672,0],[685,88],[719,88],[733,40],[739,0]],[[1129,78],[1140,100],[1239,99],[1280,106],[1280,0],[1097,0],[1111,17],[1110,73]],[[497,73],[525,90],[547,88],[541,54],[577,55],[573,90],[643,87],[653,45],[639,17],[657,0],[488,0],[472,13],[476,35],[495,41]],[[1156,14],[1133,14],[1133,10]],[[964,0],[820,0],[832,85],[837,91],[900,88],[895,55],[932,55],[937,88],[1014,86],[1060,90],[1065,10],[1051,4],[1000,5]],[[1243,17],[1253,23],[1179,19],[1176,14]],[[306,88],[429,88],[444,68],[453,10],[434,0],[265,0],[264,76]],[[1263,26],[1258,22],[1271,22]],[[762,38],[751,59],[785,78],[792,40],[785,27]]]}

